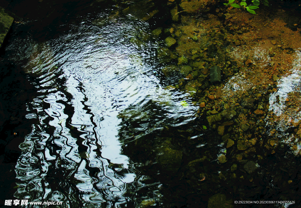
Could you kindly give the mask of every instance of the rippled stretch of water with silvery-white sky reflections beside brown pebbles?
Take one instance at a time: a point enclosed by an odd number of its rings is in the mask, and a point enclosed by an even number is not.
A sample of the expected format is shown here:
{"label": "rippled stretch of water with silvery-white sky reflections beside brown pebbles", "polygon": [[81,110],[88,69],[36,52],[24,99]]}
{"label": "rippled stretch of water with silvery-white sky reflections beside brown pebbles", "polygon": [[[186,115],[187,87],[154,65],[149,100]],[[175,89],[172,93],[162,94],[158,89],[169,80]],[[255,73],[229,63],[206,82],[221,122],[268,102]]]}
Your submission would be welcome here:
{"label": "rippled stretch of water with silvery-white sky reflections beside brown pebbles", "polygon": [[[42,42],[13,35],[5,49],[37,92],[27,103],[32,131],[20,145],[14,196],[63,201],[63,207],[158,203],[162,184],[137,172],[122,145],[133,145],[165,123],[192,121],[197,107],[187,95],[164,89],[167,81],[155,58],[160,45],[148,38],[147,23],[109,11],[76,20],[57,26],[70,31],[53,31],[56,36]],[[32,23],[14,33],[26,24]],[[133,122],[138,123],[122,132]],[[141,188],[147,191],[135,196]]]}

